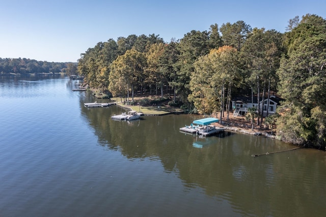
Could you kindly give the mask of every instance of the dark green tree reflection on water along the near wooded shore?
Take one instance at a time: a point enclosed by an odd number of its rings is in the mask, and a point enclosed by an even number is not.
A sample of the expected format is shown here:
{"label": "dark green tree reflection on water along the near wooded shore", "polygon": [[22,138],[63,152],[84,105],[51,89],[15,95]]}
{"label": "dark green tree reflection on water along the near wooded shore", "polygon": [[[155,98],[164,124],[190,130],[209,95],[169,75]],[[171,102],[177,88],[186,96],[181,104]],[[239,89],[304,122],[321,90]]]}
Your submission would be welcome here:
{"label": "dark green tree reflection on water along the near wooded shore", "polygon": [[[94,100],[86,93],[85,98],[80,98],[80,110],[95,129],[101,146],[119,150],[129,160],[160,161],[166,173],[179,177],[184,191],[200,187],[207,196],[228,201],[239,215],[304,216],[310,214],[309,206],[315,207],[314,203],[326,199],[325,194],[320,194],[326,193],[325,186],[319,193],[312,187],[320,186],[326,178],[324,157],[307,159],[305,150],[300,149],[254,158],[252,154],[292,146],[227,131],[208,138],[179,132],[181,126],[197,116],[145,116],[132,122],[115,121],[111,116],[124,112],[122,108],[82,106],[90,101]],[[309,206],[303,206],[307,203]]]}

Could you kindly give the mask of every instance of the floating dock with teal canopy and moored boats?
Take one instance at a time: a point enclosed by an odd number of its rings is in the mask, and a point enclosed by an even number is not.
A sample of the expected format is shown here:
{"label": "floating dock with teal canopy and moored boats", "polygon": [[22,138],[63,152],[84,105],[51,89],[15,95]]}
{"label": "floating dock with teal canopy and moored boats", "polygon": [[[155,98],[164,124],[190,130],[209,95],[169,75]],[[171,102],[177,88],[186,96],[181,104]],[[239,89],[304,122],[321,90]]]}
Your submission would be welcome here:
{"label": "floating dock with teal canopy and moored boats", "polygon": [[[218,133],[224,131],[221,127],[216,127],[214,125],[209,125],[214,122],[219,122],[217,118],[204,118],[200,120],[195,120],[190,126],[185,126],[180,128],[180,132],[188,133],[188,134],[199,134],[206,137],[207,135],[211,135],[214,133]],[[197,124],[197,125],[194,125]]]}

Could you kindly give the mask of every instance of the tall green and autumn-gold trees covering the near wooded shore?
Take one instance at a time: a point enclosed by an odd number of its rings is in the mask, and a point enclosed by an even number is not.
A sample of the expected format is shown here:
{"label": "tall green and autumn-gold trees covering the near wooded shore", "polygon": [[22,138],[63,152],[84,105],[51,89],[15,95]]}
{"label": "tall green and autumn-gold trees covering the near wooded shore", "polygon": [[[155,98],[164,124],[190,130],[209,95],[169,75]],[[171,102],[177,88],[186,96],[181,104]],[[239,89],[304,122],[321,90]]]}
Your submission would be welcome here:
{"label": "tall green and autumn-gold trees covering the near wooded shore", "polygon": [[[221,121],[232,96],[259,102],[278,93],[279,115],[265,121],[276,123],[283,141],[324,149],[325,59],[326,20],[307,14],[290,19],[285,33],[237,21],[169,43],[155,34],[110,39],[82,53],[78,72],[114,97],[166,91],[190,112],[221,112]],[[259,103],[257,111],[261,126]]]}

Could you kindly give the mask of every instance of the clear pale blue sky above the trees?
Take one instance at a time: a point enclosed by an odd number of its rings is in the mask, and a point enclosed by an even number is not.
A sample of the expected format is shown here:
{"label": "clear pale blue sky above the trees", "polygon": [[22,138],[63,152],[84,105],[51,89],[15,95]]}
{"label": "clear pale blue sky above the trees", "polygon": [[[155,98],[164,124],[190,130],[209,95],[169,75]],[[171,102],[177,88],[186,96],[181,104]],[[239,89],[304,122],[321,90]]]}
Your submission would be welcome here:
{"label": "clear pale blue sky above the trees", "polygon": [[155,34],[170,42],[238,20],[283,33],[295,16],[326,18],[325,8],[324,0],[0,0],[0,58],[77,62],[111,38]]}

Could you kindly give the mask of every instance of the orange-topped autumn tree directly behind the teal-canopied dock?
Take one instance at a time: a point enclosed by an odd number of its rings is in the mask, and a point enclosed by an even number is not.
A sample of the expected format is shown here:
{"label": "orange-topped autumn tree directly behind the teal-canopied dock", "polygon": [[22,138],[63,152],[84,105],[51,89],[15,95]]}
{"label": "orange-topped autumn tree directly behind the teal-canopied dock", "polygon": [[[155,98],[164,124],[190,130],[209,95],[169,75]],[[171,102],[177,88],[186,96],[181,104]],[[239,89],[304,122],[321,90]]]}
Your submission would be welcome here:
{"label": "orange-topped autumn tree directly behind the teal-canopied dock", "polygon": [[229,111],[231,90],[239,75],[238,51],[231,46],[212,49],[194,65],[189,100],[201,114],[219,111],[222,121],[224,107]]}

